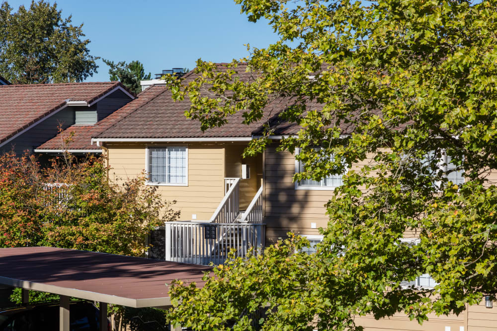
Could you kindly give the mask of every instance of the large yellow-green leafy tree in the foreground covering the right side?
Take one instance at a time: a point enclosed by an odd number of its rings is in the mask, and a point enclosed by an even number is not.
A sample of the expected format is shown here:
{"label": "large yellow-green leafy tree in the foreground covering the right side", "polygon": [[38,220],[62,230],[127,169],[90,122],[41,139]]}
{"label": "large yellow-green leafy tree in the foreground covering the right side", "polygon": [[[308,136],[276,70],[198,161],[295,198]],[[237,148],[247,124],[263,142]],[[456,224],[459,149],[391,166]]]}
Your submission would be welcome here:
{"label": "large yellow-green leafy tree in the foreground covering the right side", "polygon": [[[294,180],[344,173],[343,185],[316,254],[294,255],[304,243],[293,238],[215,267],[203,289],[176,282],[171,317],[250,330],[242,316],[269,307],[263,330],[360,330],[354,316],[404,312],[422,323],[495,300],[497,1],[236,2],[279,40],[248,48],[252,79],[236,60],[227,70],[199,60],[194,79],[170,86],[173,98],[191,101],[186,115],[203,130],[236,112],[260,121],[272,100],[291,98],[279,120],[302,129],[278,149],[300,148]],[[271,132],[268,123],[245,154]],[[419,242],[402,242],[406,232]],[[425,273],[433,289],[402,286]]]}

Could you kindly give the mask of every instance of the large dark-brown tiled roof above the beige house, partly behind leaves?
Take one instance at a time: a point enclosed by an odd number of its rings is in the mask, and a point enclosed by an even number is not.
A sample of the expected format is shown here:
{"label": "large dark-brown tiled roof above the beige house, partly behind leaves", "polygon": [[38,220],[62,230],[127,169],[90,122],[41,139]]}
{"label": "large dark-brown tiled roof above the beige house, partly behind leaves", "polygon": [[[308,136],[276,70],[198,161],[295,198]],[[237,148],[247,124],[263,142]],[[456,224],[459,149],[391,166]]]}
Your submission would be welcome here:
{"label": "large dark-brown tiled roof above the beige house, partly behind leaves", "polygon": [[[226,64],[217,64],[217,66],[220,70],[227,68]],[[253,79],[253,73],[247,72],[246,65],[239,65],[236,71],[242,81]],[[188,83],[194,78],[195,75],[191,71],[183,77],[184,83]],[[150,102],[138,107],[126,118],[93,137],[102,139],[251,137],[262,134],[265,123],[269,124],[273,130],[273,135],[292,135],[298,133],[302,127],[297,123],[283,120],[278,115],[289,106],[299,102],[303,101],[298,97],[276,97],[263,109],[263,116],[257,123],[243,124],[244,111],[239,111],[229,116],[228,123],[222,127],[202,132],[198,120],[191,120],[184,116],[185,111],[190,110],[190,101],[185,99],[175,102],[171,92],[164,89]],[[317,102],[306,102],[305,106],[307,110],[321,111],[323,109],[323,104]],[[340,126],[344,133],[353,130],[351,124],[341,123]]]}

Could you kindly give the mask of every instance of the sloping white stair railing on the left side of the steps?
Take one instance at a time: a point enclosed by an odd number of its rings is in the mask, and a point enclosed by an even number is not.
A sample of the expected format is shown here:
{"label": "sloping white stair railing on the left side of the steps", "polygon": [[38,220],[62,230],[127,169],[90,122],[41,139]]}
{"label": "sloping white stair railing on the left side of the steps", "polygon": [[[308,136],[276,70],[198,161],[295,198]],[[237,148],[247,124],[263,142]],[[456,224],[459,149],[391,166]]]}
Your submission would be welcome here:
{"label": "sloping white stair railing on the left side of the steps", "polygon": [[225,178],[224,183],[225,196],[209,220],[213,223],[233,223],[240,213],[240,178]]}

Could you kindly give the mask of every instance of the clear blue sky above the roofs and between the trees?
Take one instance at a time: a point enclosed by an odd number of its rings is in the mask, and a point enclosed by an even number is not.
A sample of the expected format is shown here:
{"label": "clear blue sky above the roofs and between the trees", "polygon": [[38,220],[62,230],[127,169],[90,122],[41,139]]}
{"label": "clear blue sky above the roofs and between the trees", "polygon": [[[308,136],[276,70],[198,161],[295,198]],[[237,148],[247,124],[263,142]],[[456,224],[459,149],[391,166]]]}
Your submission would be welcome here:
{"label": "clear blue sky above the roofs and between the trees", "polygon": [[[3,2],[3,0],[0,0]],[[7,0],[17,10],[30,0]],[[54,0],[49,0],[53,3]],[[193,69],[198,58],[230,62],[248,55],[244,44],[263,48],[277,37],[266,21],[248,22],[233,0],[58,0],[63,17],[83,23],[90,54],[114,62],[139,60],[146,72]],[[108,67],[86,81],[108,81]]]}

